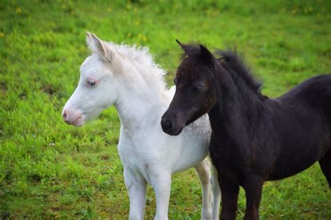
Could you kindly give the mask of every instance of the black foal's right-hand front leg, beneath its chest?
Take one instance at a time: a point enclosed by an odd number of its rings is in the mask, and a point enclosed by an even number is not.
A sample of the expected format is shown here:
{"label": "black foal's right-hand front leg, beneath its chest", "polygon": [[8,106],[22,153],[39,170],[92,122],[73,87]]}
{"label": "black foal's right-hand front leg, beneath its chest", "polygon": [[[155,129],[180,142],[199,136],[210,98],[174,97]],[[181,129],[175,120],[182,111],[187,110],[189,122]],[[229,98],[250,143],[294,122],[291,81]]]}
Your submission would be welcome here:
{"label": "black foal's right-hand front leg, beneath its chest", "polygon": [[258,219],[258,207],[262,196],[263,179],[260,177],[249,177],[244,182],[246,193],[246,212],[244,219]]}

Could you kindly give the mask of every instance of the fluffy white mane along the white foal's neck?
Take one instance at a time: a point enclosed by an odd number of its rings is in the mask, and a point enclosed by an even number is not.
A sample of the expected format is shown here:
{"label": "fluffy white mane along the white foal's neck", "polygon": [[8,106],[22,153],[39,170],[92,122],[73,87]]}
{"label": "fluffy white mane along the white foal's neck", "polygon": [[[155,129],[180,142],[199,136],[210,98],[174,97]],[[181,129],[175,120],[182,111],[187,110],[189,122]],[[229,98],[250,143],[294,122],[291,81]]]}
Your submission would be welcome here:
{"label": "fluffy white mane along the white foal's neck", "polygon": [[133,66],[142,74],[147,82],[147,85],[159,89],[162,93],[165,91],[164,75],[166,73],[159,64],[156,64],[154,58],[149,53],[148,47],[138,47],[137,45],[116,45],[114,43],[108,43],[119,54],[131,61]]}

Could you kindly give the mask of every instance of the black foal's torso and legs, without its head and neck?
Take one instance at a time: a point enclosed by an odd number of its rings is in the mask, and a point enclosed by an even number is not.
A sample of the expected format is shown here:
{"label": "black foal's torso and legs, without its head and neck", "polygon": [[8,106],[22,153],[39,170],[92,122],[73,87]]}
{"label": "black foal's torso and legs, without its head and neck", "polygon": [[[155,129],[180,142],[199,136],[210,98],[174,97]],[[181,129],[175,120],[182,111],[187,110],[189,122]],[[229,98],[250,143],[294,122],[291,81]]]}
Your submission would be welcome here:
{"label": "black foal's torso and legs, without its head and neck", "polygon": [[311,78],[276,99],[257,99],[252,115],[229,105],[232,116],[226,117],[223,103],[216,101],[208,113],[223,219],[235,218],[239,186],[247,195],[245,219],[257,219],[265,180],[290,177],[316,161],[331,186],[331,75]]}

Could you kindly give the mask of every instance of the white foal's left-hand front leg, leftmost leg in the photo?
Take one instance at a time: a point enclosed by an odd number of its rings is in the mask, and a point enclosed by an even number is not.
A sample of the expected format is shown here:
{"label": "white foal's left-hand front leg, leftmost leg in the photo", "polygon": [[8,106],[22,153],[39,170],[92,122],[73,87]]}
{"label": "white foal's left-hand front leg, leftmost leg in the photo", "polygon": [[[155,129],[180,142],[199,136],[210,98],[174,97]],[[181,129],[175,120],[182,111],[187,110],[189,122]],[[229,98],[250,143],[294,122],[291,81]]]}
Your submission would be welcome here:
{"label": "white foal's left-hand front leg, leftmost leg in the photo", "polygon": [[124,181],[130,199],[129,219],[144,219],[146,202],[146,180],[140,175],[133,175],[124,168]]}

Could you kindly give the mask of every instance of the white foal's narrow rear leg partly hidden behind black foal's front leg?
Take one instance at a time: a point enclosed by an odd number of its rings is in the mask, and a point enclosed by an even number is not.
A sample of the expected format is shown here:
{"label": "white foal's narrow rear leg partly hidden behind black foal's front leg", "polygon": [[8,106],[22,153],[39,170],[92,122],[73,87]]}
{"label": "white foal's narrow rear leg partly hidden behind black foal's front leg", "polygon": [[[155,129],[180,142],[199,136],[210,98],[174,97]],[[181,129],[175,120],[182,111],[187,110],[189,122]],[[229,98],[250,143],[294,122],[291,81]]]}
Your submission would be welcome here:
{"label": "white foal's narrow rear leg partly hidden behind black foal's front leg", "polygon": [[217,170],[212,166],[212,220],[219,220],[219,206],[221,203],[221,189]]}

